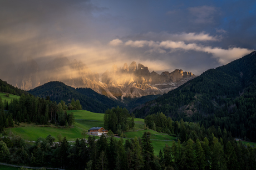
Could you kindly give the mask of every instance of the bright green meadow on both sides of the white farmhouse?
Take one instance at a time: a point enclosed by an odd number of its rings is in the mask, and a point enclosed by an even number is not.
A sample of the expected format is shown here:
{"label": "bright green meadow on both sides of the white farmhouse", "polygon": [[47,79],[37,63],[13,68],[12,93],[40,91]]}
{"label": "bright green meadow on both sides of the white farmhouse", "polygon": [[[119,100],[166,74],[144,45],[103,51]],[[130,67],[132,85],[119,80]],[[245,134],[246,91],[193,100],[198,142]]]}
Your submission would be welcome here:
{"label": "bright green meadow on both sides of the white farmhouse", "polygon": [[[9,133],[9,131],[12,131],[14,135],[22,136],[24,140],[28,141],[36,141],[38,137],[46,138],[48,135],[54,136],[57,141],[57,135],[60,134],[62,137],[66,136],[68,141],[75,141],[76,138],[88,137],[88,135],[82,136],[83,130],[87,131],[91,127],[104,126],[104,114],[97,114],[86,110],[69,110],[67,112],[73,112],[75,116],[75,125],[73,125],[73,127],[71,128],[61,128],[54,125],[51,125],[49,127],[43,127],[33,124],[27,125],[27,123],[21,123],[22,127],[8,128],[6,130],[7,133]],[[135,136],[141,138],[144,132],[150,132],[152,135],[151,141],[154,147],[154,152],[155,154],[159,154],[159,151],[163,151],[163,148],[166,144],[171,146],[173,144],[173,141],[171,140],[175,140],[175,137],[173,136],[165,135],[163,133],[159,133],[153,130],[142,130],[143,128],[144,119],[135,119],[135,131],[132,131],[131,129],[129,132],[125,132],[124,134],[126,135],[126,138],[124,138],[124,141],[127,138],[134,138]],[[116,139],[120,140],[120,138]]]}

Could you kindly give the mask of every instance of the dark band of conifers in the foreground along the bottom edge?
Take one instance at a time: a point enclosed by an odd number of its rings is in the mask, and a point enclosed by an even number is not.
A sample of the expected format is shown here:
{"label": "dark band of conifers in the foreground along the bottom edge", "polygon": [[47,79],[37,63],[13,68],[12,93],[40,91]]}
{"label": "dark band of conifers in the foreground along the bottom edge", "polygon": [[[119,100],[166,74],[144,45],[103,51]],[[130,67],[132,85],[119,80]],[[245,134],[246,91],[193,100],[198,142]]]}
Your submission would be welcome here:
{"label": "dark band of conifers in the foreground along the bottom edge", "polygon": [[255,169],[256,148],[235,140],[224,141],[205,137],[202,141],[189,138],[165,145],[158,155],[150,141],[150,133],[141,138],[114,136],[99,140],[89,136],[70,145],[66,137],[51,135],[38,138],[35,145],[26,145],[19,136],[0,138],[0,161],[30,166],[50,166],[65,169]]}

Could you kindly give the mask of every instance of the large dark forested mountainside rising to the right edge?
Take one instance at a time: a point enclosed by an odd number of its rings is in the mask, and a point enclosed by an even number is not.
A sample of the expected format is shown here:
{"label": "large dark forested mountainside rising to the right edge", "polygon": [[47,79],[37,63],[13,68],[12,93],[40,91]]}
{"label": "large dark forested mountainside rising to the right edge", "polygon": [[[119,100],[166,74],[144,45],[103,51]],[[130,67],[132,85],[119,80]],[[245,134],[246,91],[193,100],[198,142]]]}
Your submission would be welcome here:
{"label": "large dark forested mountainside rising to the right edge", "polygon": [[136,117],[163,112],[174,120],[226,128],[256,141],[256,51],[203,74],[134,109]]}

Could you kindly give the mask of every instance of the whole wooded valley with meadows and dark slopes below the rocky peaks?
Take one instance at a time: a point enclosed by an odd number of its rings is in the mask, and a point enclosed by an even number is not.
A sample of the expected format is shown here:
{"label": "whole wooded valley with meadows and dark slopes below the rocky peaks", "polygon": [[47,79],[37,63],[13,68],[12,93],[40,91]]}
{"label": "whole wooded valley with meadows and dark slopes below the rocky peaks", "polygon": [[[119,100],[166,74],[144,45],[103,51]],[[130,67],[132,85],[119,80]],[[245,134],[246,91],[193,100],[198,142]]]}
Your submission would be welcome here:
{"label": "whole wooded valley with meadows and dark slopes below the rocky peaks", "polygon": [[[4,151],[1,154],[10,155],[3,161],[12,164],[25,161],[35,166],[48,162],[53,167],[73,164],[79,168],[85,163],[76,162],[75,157],[90,159],[95,154],[95,158],[124,162],[131,159],[140,164],[150,159],[150,166],[154,167],[165,161],[164,167],[170,163],[182,169],[190,164],[178,162],[191,158],[195,167],[209,169],[211,165],[221,165],[233,169],[237,163],[250,169],[254,167],[254,159],[249,158],[252,164],[243,162],[246,153],[252,156],[256,153],[255,56],[254,51],[227,65],[209,69],[167,94],[139,99],[119,96],[120,100],[112,100],[91,89],[74,88],[60,81],[23,91],[1,80],[2,96],[7,92],[18,95],[9,95],[8,102],[0,98],[0,128],[4,135],[0,139]],[[81,110],[84,106],[90,111]],[[91,127],[104,127],[119,137],[84,135]],[[60,143],[51,147],[53,139]],[[26,154],[27,159],[16,154]],[[230,159],[227,155],[231,155]],[[137,156],[141,158],[134,159]],[[58,162],[62,158],[69,162]],[[93,160],[97,163],[96,159],[90,159]]]}

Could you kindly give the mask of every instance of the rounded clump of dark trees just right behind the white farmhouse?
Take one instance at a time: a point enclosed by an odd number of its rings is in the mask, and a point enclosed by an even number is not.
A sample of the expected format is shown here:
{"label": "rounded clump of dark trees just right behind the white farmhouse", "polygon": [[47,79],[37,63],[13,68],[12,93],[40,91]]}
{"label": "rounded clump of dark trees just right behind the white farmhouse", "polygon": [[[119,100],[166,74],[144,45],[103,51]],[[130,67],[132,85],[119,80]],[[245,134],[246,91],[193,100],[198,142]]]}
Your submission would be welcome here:
{"label": "rounded clump of dark trees just right behind the white farmhouse", "polygon": [[135,126],[134,115],[122,107],[113,107],[105,111],[104,128],[117,133],[119,136],[123,131],[128,131]]}

